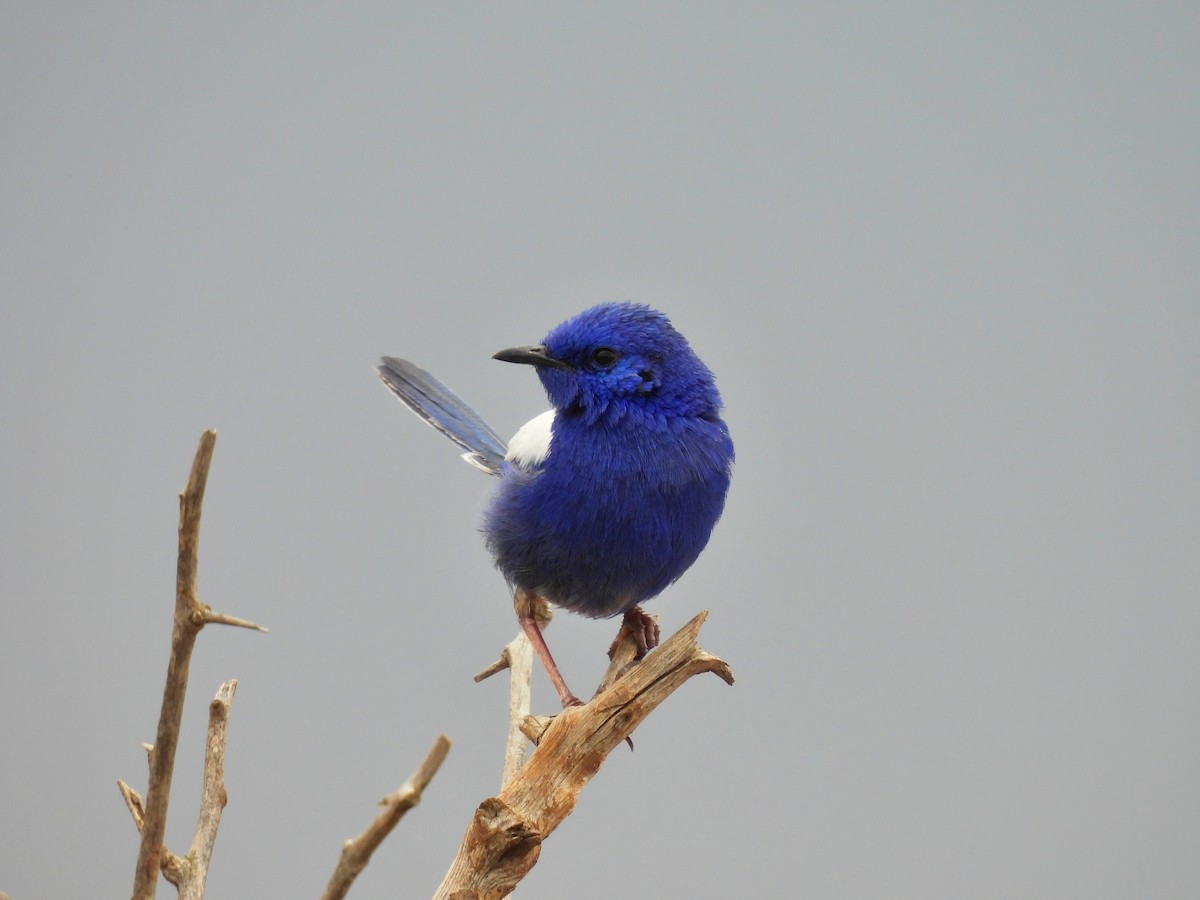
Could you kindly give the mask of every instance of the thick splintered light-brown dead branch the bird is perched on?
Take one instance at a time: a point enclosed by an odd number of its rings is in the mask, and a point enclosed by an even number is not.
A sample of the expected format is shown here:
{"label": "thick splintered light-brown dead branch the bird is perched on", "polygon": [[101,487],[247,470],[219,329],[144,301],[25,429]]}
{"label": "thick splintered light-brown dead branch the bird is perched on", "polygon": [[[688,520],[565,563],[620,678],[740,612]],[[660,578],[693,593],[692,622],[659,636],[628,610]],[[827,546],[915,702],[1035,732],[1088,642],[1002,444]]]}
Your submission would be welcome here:
{"label": "thick splintered light-brown dead branch the bird is perched on", "polygon": [[575,809],[583,786],[646,716],[700,672],[733,683],[728,665],[696,643],[707,617],[696,616],[592,702],[553,719],[524,767],[475,810],[434,900],[499,900],[511,893],[538,862],[542,841]]}

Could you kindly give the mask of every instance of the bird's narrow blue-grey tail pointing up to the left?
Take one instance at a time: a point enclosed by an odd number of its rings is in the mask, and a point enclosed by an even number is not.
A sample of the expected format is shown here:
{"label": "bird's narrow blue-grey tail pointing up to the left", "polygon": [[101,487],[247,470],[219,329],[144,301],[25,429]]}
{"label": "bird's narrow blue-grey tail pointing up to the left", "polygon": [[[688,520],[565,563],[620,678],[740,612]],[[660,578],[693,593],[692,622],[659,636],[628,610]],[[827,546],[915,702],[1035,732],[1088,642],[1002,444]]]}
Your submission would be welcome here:
{"label": "bird's narrow blue-grey tail pointing up to the left", "polygon": [[408,360],[384,356],[376,371],[404,406],[467,451],[463,460],[492,475],[500,473],[504,440],[462,397]]}

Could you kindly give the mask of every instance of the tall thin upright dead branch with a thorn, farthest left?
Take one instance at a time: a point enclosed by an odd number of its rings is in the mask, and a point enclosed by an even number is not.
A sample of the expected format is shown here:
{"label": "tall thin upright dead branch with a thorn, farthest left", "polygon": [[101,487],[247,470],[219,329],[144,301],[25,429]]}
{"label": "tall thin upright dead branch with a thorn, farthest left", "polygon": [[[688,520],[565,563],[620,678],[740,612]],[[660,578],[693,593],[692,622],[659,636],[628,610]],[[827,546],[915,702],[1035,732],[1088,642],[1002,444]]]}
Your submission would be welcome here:
{"label": "tall thin upright dead branch with a thorn, farthest left", "polygon": [[[150,751],[150,779],[142,806],[142,844],[138,847],[137,870],[133,875],[134,900],[151,900],[157,890],[158,871],[162,869],[166,850],[162,846],[167,830],[167,808],[170,799],[170,780],[175,768],[175,749],[179,727],[184,716],[184,698],[187,694],[187,672],[192,649],[200,629],[208,623],[235,624],[265,630],[245,619],[221,616],[199,601],[197,595],[197,565],[200,541],[200,509],[208,484],[209,466],[216,446],[217,433],[206,431],[200,436],[196,458],[187,479],[187,486],[179,494],[179,558],[175,569],[175,618],[170,634],[170,658],[167,662],[167,680],[162,694],[162,710],[154,749]],[[121,788],[130,811],[138,815],[130,800],[128,786]],[[136,792],[134,792],[136,796]]]}

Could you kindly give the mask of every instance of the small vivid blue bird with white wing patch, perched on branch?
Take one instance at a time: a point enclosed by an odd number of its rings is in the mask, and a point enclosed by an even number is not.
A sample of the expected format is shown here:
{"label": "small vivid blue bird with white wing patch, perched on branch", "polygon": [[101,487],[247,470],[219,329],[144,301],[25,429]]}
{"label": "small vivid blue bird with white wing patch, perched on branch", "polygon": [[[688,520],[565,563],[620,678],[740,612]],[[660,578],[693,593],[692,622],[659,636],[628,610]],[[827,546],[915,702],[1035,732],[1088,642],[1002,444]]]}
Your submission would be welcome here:
{"label": "small vivid blue bird with white wing patch, perched on branch", "polygon": [[613,647],[629,632],[644,656],[659,634],[640,604],[683,575],[708,542],[725,508],[733,442],[713,373],[648,306],[594,306],[541,344],[494,359],[533,366],[552,406],[506,445],[412,362],[384,356],[378,372],[466,450],[464,460],[499,476],[485,541],[565,708],[580,700],[541,635],[544,601],[593,618],[623,614]]}

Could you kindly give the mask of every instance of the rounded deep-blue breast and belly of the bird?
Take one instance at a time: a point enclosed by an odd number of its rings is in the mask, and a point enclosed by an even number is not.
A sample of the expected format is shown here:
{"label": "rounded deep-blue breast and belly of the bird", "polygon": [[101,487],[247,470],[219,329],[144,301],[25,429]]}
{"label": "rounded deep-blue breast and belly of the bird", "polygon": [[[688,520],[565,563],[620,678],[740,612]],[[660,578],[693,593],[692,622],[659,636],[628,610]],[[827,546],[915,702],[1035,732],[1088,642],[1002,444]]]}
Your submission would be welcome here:
{"label": "rounded deep-blue breast and belly of the bird", "polygon": [[728,433],[702,419],[583,427],[560,414],[552,424],[540,467],[514,461],[502,474],[488,546],[514,584],[584,614],[623,612],[708,541],[728,488]]}

